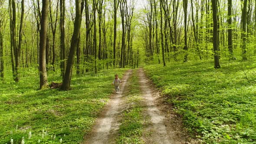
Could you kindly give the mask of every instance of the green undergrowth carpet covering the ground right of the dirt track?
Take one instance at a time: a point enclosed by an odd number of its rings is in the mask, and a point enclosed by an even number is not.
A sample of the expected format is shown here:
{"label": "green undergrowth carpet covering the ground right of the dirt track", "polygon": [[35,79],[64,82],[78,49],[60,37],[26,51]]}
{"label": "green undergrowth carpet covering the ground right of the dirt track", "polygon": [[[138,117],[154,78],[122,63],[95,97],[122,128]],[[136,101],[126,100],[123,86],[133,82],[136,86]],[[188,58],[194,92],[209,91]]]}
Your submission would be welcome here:
{"label": "green undergrowth carpet covering the ground right of the dirt track", "polygon": [[204,143],[256,143],[256,61],[220,65],[213,69],[212,61],[198,61],[144,69]]}

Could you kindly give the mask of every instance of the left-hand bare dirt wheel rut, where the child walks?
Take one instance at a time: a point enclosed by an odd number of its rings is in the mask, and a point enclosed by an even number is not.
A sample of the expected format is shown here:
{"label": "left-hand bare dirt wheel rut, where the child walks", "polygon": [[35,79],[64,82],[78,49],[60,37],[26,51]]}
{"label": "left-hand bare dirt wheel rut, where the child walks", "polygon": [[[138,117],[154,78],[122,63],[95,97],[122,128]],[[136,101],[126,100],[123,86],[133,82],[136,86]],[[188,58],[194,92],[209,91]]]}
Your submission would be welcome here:
{"label": "left-hand bare dirt wheel rut, where the child walks", "polygon": [[102,115],[98,118],[95,127],[92,129],[92,134],[85,137],[83,144],[109,144],[111,143],[111,133],[118,129],[116,118],[121,113],[123,90],[127,80],[129,79],[132,70],[128,70],[122,78],[120,85],[120,94],[112,94],[110,101],[105,106]]}

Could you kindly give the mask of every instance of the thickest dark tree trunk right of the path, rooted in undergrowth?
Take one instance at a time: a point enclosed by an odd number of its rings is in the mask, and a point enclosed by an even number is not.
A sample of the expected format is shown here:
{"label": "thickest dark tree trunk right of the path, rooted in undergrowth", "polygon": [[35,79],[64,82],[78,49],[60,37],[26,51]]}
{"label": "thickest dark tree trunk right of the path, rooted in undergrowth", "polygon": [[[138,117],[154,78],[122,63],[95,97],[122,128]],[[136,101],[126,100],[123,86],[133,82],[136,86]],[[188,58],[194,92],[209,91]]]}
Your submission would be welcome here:
{"label": "thickest dark tree trunk right of the path, rooted in undergrowth", "polygon": [[218,20],[217,20],[217,0],[212,0],[213,10],[213,54],[214,54],[214,68],[220,68],[219,62],[219,41],[218,41]]}

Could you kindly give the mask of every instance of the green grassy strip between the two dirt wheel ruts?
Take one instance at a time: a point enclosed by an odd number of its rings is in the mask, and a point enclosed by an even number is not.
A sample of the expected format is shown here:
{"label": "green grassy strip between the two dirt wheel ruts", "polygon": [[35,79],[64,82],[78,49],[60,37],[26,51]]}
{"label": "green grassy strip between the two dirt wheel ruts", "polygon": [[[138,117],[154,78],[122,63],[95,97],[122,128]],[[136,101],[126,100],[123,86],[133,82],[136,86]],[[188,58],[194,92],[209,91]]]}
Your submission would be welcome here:
{"label": "green grassy strip between the two dirt wheel ruts", "polygon": [[119,134],[116,139],[118,144],[144,144],[141,140],[144,124],[144,107],[141,103],[137,72],[133,72],[126,84],[127,93],[125,102],[128,109],[122,114]]}

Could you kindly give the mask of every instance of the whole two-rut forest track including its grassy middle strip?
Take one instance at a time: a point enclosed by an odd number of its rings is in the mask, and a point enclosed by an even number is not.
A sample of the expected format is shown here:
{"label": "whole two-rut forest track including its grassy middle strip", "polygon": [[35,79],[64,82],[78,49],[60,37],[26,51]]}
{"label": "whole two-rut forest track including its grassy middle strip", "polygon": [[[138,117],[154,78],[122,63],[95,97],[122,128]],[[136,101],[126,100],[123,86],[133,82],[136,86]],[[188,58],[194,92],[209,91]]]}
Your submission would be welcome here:
{"label": "whole two-rut forest track including its grassy middle strip", "polygon": [[195,143],[188,140],[181,118],[163,104],[144,69],[128,70],[122,82],[120,94],[111,95],[83,144]]}

